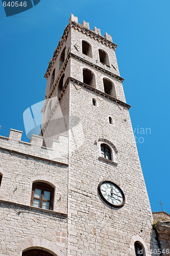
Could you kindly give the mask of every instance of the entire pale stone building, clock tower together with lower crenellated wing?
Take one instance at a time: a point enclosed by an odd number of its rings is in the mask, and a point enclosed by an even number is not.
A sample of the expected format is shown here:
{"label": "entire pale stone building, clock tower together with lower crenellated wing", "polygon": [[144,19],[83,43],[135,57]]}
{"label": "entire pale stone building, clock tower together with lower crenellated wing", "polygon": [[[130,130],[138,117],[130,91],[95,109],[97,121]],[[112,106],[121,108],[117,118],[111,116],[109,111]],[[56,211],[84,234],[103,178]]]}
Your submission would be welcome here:
{"label": "entire pale stone building, clock tower together with lower crenellated wing", "polygon": [[160,255],[116,47],[71,14],[40,136],[0,137],[1,255]]}

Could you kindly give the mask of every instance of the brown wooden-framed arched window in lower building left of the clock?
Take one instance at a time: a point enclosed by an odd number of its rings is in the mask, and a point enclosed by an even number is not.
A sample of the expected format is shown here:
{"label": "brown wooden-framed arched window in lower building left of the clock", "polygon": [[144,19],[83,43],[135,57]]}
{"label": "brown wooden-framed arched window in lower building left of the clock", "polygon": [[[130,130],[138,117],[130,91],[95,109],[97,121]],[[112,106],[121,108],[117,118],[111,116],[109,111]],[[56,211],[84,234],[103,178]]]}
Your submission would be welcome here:
{"label": "brown wooden-framed arched window in lower building left of the clock", "polygon": [[53,210],[54,188],[44,182],[35,182],[32,187],[31,205]]}

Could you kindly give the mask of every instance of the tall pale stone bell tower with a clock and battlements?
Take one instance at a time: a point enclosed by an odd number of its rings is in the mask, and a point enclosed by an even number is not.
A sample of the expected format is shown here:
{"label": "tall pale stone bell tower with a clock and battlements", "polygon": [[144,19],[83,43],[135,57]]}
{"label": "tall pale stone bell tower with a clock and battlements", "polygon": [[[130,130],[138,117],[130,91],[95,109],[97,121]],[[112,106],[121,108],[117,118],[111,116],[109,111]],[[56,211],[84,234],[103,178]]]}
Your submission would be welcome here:
{"label": "tall pale stone bell tower with a clock and battlements", "polygon": [[68,255],[158,248],[116,47],[71,14],[45,73],[44,143],[68,136]]}

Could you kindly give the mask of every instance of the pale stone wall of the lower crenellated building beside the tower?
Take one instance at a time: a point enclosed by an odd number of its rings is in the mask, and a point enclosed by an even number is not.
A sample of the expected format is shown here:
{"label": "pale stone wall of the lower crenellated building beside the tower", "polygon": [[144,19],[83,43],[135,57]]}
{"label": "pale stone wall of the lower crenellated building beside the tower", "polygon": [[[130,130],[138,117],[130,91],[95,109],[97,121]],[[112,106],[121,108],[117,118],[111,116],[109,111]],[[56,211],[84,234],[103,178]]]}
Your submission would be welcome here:
{"label": "pale stone wall of the lower crenellated building beside the tower", "polygon": [[[61,250],[61,255],[67,255],[68,165],[47,154],[47,148],[42,147],[42,137],[32,136],[30,143],[20,140],[21,132],[15,130],[10,131],[9,138],[0,137],[0,173],[3,176],[0,188],[0,254],[21,256],[23,245],[38,246],[35,240],[40,239],[41,247],[51,243],[55,251]],[[60,142],[62,147],[62,140]],[[54,187],[53,210],[30,206],[34,182]],[[63,232],[64,242],[60,241],[57,232]],[[34,243],[29,244],[31,239]]]}

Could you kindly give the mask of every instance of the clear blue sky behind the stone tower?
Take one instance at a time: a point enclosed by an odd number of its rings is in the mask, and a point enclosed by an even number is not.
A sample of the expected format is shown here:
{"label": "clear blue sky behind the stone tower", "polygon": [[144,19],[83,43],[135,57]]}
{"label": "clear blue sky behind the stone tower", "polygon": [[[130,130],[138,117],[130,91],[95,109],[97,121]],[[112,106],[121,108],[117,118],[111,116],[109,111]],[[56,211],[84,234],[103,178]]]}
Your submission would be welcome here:
{"label": "clear blue sky behind the stone tower", "polygon": [[[6,17],[0,3],[0,135],[8,136],[10,128],[25,131],[23,112],[44,99],[43,76],[73,13],[79,23],[84,19],[90,29],[96,26],[102,35],[111,34],[118,45],[119,71],[125,78],[127,103],[132,105],[130,115],[152,211],[161,210],[161,200],[170,214],[169,9],[169,0],[41,0],[26,12]],[[140,134],[147,128],[148,134]],[[22,140],[28,141],[25,133]]]}

